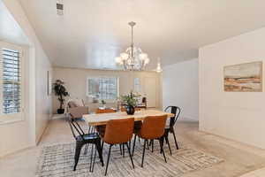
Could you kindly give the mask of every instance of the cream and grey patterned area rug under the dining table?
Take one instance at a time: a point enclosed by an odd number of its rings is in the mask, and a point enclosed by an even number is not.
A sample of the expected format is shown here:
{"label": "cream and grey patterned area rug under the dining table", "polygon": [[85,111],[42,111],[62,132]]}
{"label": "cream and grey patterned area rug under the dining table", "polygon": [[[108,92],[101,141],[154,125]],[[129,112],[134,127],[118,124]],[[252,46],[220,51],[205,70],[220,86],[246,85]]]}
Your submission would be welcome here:
{"label": "cream and grey patterned area rug under the dining table", "polygon": [[[134,169],[127,151],[125,151],[125,158],[123,158],[120,154],[119,146],[113,146],[107,176],[180,177],[185,173],[201,170],[223,161],[222,158],[217,158],[200,150],[194,150],[183,144],[180,144],[179,150],[176,149],[174,142],[170,142],[170,144],[172,155],[170,155],[167,144],[164,146],[167,163],[164,162],[163,155],[159,153],[159,143],[155,142],[154,152],[146,150],[144,168],[141,168],[142,144],[136,142],[133,156]],[[90,147],[92,146],[90,145]],[[105,166],[101,166],[98,157],[95,159],[94,172],[89,172],[91,149],[88,150],[87,155],[84,155],[84,151],[82,151],[77,169],[73,172],[74,148],[74,143],[44,146],[39,159],[36,177],[98,177],[104,175]],[[105,162],[108,150],[108,145],[105,145],[103,150]]]}

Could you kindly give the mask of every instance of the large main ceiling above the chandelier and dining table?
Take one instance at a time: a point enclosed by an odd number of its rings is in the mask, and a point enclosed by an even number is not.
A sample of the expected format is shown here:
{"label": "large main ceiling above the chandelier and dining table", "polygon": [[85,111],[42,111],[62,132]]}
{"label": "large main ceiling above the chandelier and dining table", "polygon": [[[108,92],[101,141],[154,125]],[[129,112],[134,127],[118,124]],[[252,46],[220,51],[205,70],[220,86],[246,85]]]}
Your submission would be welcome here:
{"label": "large main ceiling above the chandelier and dining table", "polygon": [[198,57],[198,49],[265,26],[264,0],[19,0],[53,65],[117,69],[130,44],[148,53],[149,69]]}

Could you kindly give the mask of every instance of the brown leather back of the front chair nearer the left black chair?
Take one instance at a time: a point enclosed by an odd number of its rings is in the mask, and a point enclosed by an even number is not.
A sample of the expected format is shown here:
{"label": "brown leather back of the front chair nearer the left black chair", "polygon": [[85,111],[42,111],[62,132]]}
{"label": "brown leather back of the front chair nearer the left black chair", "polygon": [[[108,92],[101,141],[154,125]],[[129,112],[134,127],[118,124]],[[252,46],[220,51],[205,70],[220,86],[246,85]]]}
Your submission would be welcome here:
{"label": "brown leather back of the front chair nearer the left black chair", "polygon": [[133,125],[134,118],[110,119],[103,141],[109,144],[129,142],[133,137]]}

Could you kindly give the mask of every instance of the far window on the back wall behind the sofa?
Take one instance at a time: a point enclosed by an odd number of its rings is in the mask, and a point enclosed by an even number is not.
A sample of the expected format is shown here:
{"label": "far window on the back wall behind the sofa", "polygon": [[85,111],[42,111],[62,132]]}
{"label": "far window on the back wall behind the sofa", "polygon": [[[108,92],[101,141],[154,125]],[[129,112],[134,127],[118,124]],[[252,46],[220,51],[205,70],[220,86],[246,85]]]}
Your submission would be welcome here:
{"label": "far window on the back wall behind the sofa", "polygon": [[115,77],[88,78],[87,95],[97,100],[115,100],[118,96],[118,79]]}

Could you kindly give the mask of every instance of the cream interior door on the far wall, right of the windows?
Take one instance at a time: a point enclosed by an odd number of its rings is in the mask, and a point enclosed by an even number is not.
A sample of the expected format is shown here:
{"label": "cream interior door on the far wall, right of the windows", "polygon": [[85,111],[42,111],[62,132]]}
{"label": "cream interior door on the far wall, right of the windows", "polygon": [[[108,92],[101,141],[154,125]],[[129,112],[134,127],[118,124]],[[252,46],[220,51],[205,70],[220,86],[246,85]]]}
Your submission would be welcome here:
{"label": "cream interior door on the far wall, right of the windows", "polygon": [[148,100],[148,107],[156,107],[156,79],[146,77],[144,80],[145,96]]}

